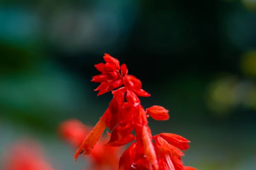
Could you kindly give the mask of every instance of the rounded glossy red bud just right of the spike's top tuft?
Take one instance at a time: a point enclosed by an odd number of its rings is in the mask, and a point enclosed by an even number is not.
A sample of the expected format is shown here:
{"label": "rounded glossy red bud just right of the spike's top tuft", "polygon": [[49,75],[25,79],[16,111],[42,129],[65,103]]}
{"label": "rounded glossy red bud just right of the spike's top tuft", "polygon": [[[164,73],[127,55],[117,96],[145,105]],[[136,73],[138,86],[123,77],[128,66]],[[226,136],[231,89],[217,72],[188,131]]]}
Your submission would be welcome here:
{"label": "rounded glossy red bud just right of the spike's top tuft", "polygon": [[139,90],[142,88],[142,83],[137,77],[133,75],[127,75],[123,78],[124,86],[130,90]]}

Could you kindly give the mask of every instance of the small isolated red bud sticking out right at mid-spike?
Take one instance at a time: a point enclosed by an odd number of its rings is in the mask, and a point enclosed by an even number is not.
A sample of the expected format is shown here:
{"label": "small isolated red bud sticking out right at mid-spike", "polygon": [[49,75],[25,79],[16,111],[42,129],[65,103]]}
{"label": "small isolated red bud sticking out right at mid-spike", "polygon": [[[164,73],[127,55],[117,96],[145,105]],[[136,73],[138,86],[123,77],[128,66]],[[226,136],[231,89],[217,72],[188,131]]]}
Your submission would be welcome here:
{"label": "small isolated red bud sticking out right at mid-spike", "polygon": [[151,116],[155,120],[168,120],[169,114],[168,110],[162,106],[152,106],[146,109],[146,114]]}

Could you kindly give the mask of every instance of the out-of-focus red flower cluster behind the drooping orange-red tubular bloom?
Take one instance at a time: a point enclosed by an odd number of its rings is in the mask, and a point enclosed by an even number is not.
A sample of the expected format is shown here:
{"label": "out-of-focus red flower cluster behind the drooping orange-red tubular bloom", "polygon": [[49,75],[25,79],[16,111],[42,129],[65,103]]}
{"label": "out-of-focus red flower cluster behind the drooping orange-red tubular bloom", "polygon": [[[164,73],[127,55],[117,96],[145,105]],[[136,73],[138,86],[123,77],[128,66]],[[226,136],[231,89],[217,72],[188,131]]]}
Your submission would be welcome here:
{"label": "out-of-focus red flower cluster behind the drooping orange-red tubular bloom", "polygon": [[[60,136],[70,143],[73,147],[79,147],[84,138],[92,128],[84,125],[76,119],[69,119],[61,122],[58,128]],[[122,147],[106,146],[110,136],[102,137],[99,142],[93,147],[89,155],[90,170],[118,170],[119,157]],[[111,155],[111,156],[110,156]]]}

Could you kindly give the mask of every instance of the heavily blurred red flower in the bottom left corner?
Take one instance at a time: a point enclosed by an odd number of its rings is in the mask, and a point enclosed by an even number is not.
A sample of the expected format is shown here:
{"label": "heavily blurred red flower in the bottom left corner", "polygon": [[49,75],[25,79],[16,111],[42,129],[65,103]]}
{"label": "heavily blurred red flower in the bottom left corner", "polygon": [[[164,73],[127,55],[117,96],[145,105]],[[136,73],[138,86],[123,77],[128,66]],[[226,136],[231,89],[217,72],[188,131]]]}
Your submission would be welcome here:
{"label": "heavily blurred red flower in the bottom left corner", "polygon": [[32,141],[18,141],[6,156],[4,170],[54,170],[44,158],[40,145]]}

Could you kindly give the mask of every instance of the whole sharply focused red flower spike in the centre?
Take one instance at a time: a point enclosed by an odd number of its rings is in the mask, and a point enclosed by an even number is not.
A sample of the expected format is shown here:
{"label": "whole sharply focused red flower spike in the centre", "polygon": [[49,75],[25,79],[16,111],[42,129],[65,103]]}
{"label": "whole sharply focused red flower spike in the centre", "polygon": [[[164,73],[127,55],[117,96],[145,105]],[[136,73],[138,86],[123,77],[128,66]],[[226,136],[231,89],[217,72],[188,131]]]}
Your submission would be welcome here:
{"label": "whole sharply focused red flower spike in the centre", "polygon": [[[112,91],[113,99],[74,158],[77,160],[81,153],[90,154],[108,127],[112,133],[106,146],[117,147],[133,142],[120,157],[119,170],[195,170],[185,167],[181,161],[184,155],[181,150],[189,148],[189,140],[172,133],[151,135],[148,117],[167,120],[169,111],[161,106],[144,109],[139,97],[149,97],[150,94],[142,89],[142,82],[129,75],[126,65],[120,66],[119,61],[109,54],[103,58],[105,63],[95,65],[101,74],[94,76],[91,81],[101,83],[95,89],[99,91],[98,96]],[[113,90],[115,88],[118,89]],[[133,131],[136,136],[132,134]]]}

